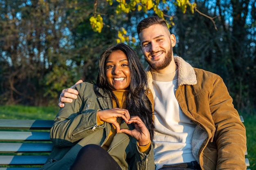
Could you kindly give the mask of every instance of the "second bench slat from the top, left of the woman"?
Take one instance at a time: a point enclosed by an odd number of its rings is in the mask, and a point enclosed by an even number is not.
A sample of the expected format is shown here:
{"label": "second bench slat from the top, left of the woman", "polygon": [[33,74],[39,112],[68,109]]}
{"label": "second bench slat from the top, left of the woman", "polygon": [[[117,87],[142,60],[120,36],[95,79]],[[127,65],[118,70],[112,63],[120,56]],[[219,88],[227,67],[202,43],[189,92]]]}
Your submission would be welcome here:
{"label": "second bench slat from the top, left of the woman", "polygon": [[0,141],[49,141],[49,132],[0,131]]}

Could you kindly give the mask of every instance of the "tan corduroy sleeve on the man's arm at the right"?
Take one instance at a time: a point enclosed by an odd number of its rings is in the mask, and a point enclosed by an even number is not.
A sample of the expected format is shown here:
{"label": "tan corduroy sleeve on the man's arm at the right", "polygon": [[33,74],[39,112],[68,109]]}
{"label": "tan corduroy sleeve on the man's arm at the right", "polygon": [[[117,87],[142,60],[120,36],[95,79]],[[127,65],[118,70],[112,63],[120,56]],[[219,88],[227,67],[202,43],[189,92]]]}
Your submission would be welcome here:
{"label": "tan corduroy sleeve on the man's arm at the right", "polygon": [[214,141],[218,150],[216,169],[246,169],[245,126],[232,104],[226,85],[218,75],[210,93],[210,109],[215,123]]}

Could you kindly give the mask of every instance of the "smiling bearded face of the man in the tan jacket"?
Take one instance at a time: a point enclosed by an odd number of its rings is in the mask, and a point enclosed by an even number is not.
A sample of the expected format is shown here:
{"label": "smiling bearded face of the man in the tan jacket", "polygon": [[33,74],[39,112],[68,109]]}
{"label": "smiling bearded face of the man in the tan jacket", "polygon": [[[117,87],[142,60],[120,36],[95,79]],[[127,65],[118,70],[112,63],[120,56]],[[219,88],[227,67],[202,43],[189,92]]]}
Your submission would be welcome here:
{"label": "smiling bearded face of the man in the tan jacket", "polygon": [[139,33],[141,50],[145,60],[154,70],[166,68],[173,57],[172,46],[174,35],[171,35],[167,28],[155,24],[149,26]]}

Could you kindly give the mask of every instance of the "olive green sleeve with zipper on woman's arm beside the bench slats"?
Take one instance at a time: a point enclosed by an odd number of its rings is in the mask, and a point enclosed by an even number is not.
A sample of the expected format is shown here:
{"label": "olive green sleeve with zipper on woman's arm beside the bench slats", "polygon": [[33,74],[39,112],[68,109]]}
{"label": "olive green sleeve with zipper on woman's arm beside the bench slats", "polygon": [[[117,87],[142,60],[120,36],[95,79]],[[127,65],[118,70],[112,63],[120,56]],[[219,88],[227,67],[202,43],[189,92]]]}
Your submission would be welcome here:
{"label": "olive green sleeve with zipper on woman's arm beside the bench slats", "polygon": [[50,137],[55,146],[72,146],[88,133],[98,130],[94,127],[97,126],[97,111],[100,106],[92,84],[81,83],[76,86],[76,90],[79,91],[77,99],[72,103],[65,103],[65,107],[59,110],[54,119]]}

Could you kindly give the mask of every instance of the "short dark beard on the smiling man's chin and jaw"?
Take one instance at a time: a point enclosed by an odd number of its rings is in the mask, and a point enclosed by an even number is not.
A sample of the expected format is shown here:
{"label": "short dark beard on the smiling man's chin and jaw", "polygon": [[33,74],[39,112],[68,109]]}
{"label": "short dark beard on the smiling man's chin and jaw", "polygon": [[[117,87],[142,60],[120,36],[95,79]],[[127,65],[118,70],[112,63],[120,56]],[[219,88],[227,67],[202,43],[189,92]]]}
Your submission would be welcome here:
{"label": "short dark beard on the smiling man's chin and jaw", "polygon": [[172,61],[172,49],[168,50],[162,62],[153,63],[148,59],[148,57],[145,57],[145,60],[153,70],[162,70],[166,68]]}

